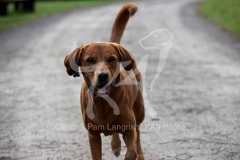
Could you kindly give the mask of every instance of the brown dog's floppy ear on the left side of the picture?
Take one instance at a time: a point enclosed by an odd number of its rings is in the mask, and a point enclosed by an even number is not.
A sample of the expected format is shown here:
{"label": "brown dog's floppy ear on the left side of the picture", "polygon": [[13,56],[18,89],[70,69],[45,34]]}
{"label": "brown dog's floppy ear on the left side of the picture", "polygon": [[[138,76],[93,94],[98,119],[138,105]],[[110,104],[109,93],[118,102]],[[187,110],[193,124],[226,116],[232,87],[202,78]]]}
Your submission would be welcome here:
{"label": "brown dog's floppy ear on the left side of the picture", "polygon": [[80,65],[80,55],[83,50],[83,45],[74,49],[64,58],[64,65],[69,76],[72,76],[78,71]]}

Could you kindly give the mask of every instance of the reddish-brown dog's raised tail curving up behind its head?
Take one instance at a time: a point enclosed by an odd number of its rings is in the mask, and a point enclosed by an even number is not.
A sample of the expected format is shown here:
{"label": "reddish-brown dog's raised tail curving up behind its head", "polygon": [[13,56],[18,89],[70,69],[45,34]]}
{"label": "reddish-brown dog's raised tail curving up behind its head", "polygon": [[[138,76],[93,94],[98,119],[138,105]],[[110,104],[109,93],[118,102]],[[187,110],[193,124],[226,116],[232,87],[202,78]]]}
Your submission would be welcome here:
{"label": "reddish-brown dog's raised tail curving up behind its head", "polygon": [[127,22],[137,9],[137,6],[133,3],[126,3],[122,7],[113,23],[110,42],[120,43]]}

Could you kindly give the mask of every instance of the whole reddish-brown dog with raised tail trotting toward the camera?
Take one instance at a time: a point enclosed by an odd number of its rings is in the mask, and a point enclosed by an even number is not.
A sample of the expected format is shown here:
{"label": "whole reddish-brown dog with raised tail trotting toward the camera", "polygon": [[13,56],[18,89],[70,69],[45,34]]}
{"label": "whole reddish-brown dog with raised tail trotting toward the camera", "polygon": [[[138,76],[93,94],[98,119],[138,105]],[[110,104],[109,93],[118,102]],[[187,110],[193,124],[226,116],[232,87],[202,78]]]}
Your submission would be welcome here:
{"label": "whole reddish-brown dog with raised tail trotting toward the camera", "polygon": [[101,133],[112,135],[115,156],[120,154],[121,133],[127,146],[125,160],[144,159],[139,132],[144,119],[141,75],[132,54],[119,45],[127,21],[136,11],[136,5],[125,4],[114,22],[110,42],[82,45],[64,59],[69,75],[79,67],[83,74],[81,109],[93,160],[102,159]]}

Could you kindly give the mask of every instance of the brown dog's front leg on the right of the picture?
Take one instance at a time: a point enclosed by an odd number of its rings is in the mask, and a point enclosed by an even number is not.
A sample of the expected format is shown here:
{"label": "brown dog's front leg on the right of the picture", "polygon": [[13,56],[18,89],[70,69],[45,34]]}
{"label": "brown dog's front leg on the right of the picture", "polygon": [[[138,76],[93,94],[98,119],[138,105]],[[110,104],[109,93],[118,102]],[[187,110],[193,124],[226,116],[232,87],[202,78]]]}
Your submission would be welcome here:
{"label": "brown dog's front leg on the right of the picture", "polygon": [[123,135],[124,142],[127,146],[125,160],[136,160],[137,158],[137,132],[129,130]]}

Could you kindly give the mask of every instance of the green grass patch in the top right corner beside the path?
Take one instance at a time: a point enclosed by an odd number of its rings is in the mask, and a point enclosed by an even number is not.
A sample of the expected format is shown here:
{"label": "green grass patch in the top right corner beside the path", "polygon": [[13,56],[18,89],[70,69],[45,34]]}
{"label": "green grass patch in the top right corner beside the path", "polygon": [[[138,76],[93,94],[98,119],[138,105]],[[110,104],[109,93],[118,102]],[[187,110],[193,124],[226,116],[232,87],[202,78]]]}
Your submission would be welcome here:
{"label": "green grass patch in the top right corner beside the path", "polygon": [[203,15],[240,36],[240,0],[206,0],[200,10]]}

